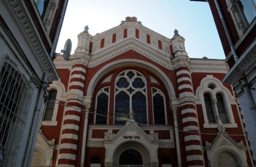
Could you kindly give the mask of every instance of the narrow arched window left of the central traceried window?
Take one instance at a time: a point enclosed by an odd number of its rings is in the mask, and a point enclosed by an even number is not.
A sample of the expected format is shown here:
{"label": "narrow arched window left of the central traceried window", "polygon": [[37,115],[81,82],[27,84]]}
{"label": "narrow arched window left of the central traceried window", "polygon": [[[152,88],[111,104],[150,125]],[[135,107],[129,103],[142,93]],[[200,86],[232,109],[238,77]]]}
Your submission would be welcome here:
{"label": "narrow arched window left of the central traceried window", "polygon": [[104,87],[98,92],[96,101],[95,124],[108,123],[109,87]]}

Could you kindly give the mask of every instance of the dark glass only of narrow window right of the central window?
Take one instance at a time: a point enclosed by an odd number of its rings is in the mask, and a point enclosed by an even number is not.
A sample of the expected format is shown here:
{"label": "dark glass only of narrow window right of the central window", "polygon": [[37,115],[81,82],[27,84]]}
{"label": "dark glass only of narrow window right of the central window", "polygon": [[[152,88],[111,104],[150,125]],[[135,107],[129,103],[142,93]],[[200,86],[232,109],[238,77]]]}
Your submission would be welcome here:
{"label": "dark glass only of narrow window right of the central window", "polygon": [[165,105],[161,95],[156,94],[153,97],[153,108],[155,124],[165,124]]}

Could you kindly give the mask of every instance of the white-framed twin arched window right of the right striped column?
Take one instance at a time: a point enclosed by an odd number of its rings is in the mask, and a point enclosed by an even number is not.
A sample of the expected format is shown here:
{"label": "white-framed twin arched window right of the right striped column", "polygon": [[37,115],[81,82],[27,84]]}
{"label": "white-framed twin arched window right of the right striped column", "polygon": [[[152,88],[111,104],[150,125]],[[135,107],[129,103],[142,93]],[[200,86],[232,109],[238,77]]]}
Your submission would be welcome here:
{"label": "white-framed twin arched window right of the right striped column", "polygon": [[220,80],[213,75],[207,75],[201,80],[196,96],[201,100],[205,128],[218,127],[219,124],[224,127],[237,127],[231,108],[232,104],[237,105],[235,96]]}

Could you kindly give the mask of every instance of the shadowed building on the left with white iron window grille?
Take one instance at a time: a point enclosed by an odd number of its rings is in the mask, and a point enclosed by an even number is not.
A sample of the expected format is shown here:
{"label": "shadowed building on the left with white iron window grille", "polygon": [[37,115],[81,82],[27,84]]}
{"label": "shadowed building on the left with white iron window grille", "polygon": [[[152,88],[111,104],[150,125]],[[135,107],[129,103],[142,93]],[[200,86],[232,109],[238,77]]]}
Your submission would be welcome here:
{"label": "shadowed building on the left with white iron window grille", "polygon": [[0,166],[28,167],[67,0],[0,0]]}

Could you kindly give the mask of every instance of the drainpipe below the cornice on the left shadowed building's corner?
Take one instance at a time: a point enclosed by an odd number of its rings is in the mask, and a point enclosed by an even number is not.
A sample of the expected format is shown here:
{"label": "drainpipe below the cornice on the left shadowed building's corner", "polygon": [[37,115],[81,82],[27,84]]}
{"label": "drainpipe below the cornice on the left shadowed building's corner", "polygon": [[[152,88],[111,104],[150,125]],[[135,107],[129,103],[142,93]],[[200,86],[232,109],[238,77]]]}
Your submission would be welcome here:
{"label": "drainpipe below the cornice on the left shadowed building's corner", "polygon": [[[43,82],[47,81],[49,72],[45,73],[44,78],[43,78]],[[44,85],[41,85],[41,89],[39,90],[38,96],[37,96],[37,103],[36,103],[36,108],[34,110],[34,116],[33,116],[33,121],[31,124],[31,129],[30,129],[30,133],[29,133],[29,139],[28,139],[28,143],[27,143],[27,149],[26,149],[26,153],[24,156],[24,160],[23,160],[23,167],[28,167],[29,164],[31,163],[30,157],[32,156],[31,154],[34,153],[33,150],[33,145],[35,143],[36,140],[34,140],[34,138],[36,138],[36,131],[38,130],[38,125],[39,125],[39,121],[41,118],[41,114],[42,114],[42,102],[43,102],[43,98],[44,98]]]}

